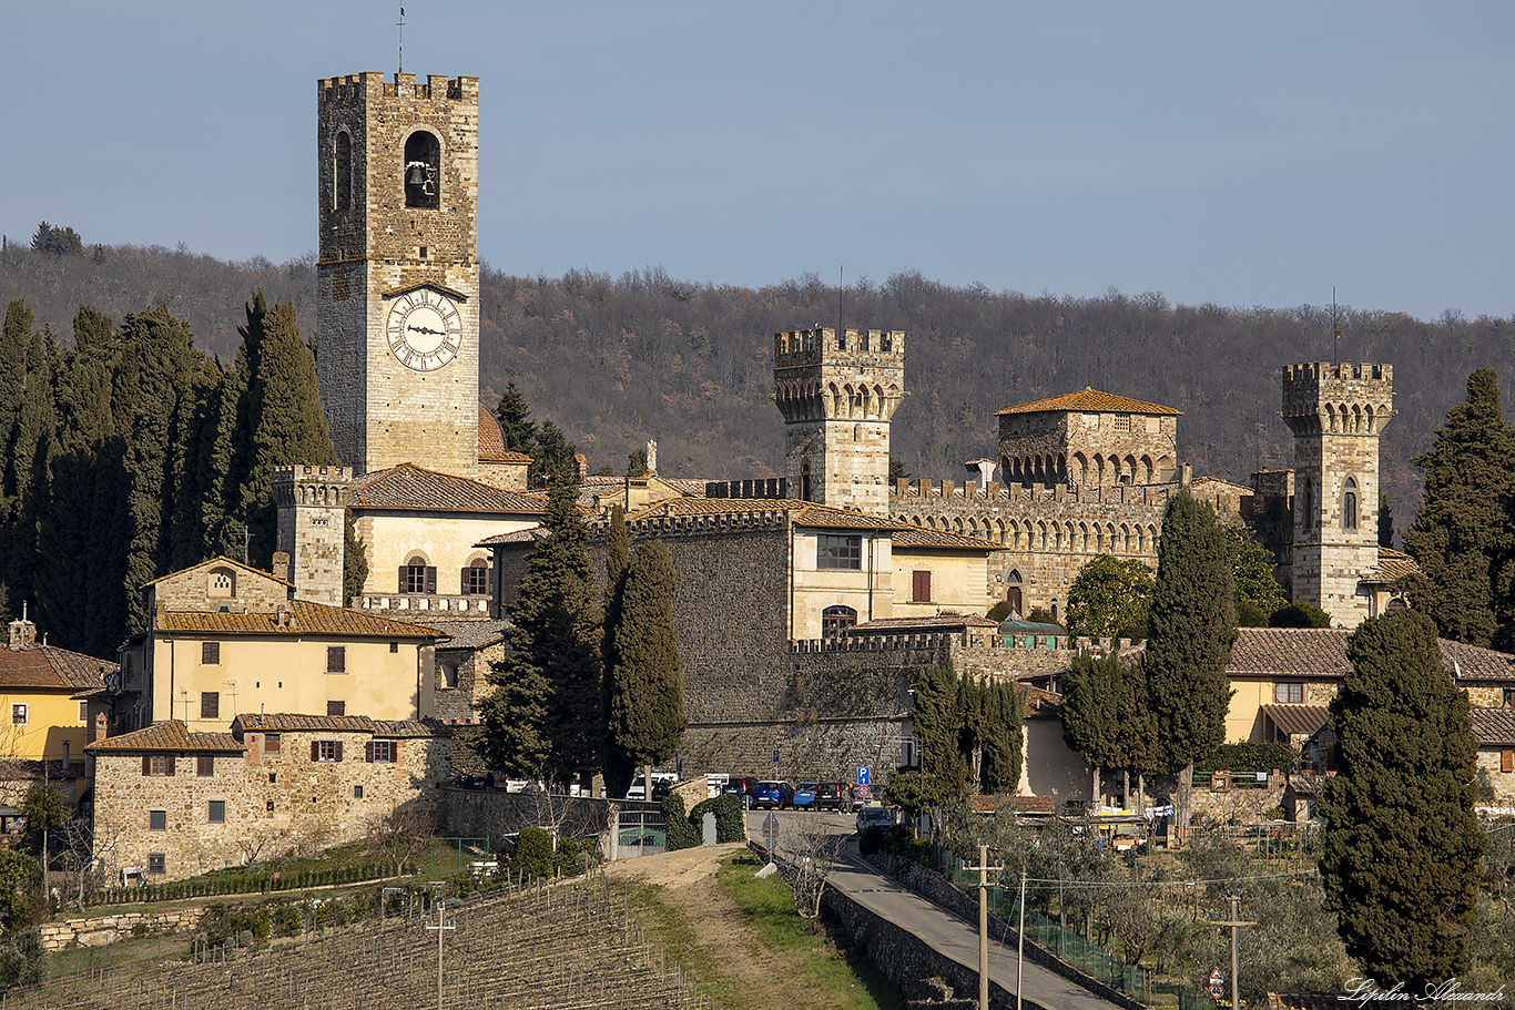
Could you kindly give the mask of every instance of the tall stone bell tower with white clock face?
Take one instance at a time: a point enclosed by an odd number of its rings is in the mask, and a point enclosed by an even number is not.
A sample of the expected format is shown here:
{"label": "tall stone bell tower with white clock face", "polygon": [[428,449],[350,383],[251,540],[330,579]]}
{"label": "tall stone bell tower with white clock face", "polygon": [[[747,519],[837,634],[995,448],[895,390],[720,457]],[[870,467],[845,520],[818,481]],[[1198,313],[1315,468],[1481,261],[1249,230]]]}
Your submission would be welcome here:
{"label": "tall stone bell tower with white clock face", "polygon": [[317,374],[356,472],[479,469],[479,79],[317,82]]}

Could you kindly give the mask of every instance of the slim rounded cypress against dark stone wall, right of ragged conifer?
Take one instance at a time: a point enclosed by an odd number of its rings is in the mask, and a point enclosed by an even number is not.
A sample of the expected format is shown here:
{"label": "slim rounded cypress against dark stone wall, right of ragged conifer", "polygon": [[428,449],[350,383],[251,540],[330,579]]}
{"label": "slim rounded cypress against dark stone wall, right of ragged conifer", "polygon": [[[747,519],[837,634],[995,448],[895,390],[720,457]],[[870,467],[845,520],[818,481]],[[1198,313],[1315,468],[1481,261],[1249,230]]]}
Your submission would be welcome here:
{"label": "slim rounded cypress against dark stone wall, right of ragged conifer", "polygon": [[651,766],[673,757],[683,739],[683,671],[674,631],[674,572],[662,541],[636,548],[615,627],[611,675],[612,750],[651,781]]}

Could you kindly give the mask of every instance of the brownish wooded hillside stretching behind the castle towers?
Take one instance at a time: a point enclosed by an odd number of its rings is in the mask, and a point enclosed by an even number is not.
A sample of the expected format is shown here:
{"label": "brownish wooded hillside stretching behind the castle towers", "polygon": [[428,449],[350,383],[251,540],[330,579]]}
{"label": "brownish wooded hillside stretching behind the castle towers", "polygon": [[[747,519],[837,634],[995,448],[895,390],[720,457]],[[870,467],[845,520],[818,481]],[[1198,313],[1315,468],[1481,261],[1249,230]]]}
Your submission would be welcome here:
{"label": "brownish wooded hillside stretching behind the castle towers", "polygon": [[[1114,289],[1032,297],[918,273],[850,282],[841,300],[815,276],[754,291],[676,280],[661,268],[615,279],[485,268],[482,283],[485,401],[494,406],[514,380],[535,416],[556,421],[592,469],[617,472],[654,438],[667,475],[776,474],[783,435],[768,401],[773,333],[835,326],[838,316],[909,335],[911,397],[895,415],[894,454],[912,475],[936,480],[964,480],[964,460],[994,454],[995,410],[1092,385],[1182,410],[1180,456],[1195,474],[1247,482],[1253,469],[1289,463],[1279,366],[1333,354],[1329,307],[1176,306]],[[15,242],[0,254],[0,303],[26,298],[39,326],[70,333],[82,303],[120,320],[167,301],[223,362],[259,288],[270,303],[291,300],[306,332],[314,329],[311,257],[227,263],[161,247],[85,247],[77,256]],[[1460,401],[1468,373],[1510,359],[1515,318],[1448,312],[1423,323],[1345,309],[1338,326],[1344,360],[1394,365],[1398,416],[1383,439],[1383,486],[1395,525],[1404,525],[1420,485],[1409,460]]]}

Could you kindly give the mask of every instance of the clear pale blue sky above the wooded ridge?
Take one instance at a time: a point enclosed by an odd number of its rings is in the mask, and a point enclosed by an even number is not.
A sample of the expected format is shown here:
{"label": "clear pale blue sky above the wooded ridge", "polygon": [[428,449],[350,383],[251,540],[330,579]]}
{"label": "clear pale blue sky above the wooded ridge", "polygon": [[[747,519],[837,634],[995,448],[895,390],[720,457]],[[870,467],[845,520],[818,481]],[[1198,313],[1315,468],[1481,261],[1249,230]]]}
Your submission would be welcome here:
{"label": "clear pale blue sky above the wooded ridge", "polygon": [[[315,80],[398,3],[6,5],[0,230],[315,247]],[[1515,5],[409,0],[495,268],[1515,313]]]}

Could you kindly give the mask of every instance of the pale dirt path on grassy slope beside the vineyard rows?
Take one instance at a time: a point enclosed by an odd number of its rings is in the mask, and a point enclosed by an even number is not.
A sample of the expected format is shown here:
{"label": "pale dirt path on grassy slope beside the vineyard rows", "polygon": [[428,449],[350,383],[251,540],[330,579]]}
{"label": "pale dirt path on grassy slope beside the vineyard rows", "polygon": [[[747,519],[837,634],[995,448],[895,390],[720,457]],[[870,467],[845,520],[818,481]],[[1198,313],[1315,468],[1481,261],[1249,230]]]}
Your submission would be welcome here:
{"label": "pale dirt path on grassy slope beside the vineyard rows", "polygon": [[606,868],[614,880],[638,881],[661,889],[661,899],[689,927],[695,943],[709,955],[723,987],[741,993],[741,1005],[824,1010],[817,993],[795,971],[797,957],[768,949],[741,910],[726,896],[715,871],[720,862],[744,848],[741,842],[697,846],[662,856],[642,856]]}

